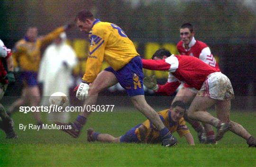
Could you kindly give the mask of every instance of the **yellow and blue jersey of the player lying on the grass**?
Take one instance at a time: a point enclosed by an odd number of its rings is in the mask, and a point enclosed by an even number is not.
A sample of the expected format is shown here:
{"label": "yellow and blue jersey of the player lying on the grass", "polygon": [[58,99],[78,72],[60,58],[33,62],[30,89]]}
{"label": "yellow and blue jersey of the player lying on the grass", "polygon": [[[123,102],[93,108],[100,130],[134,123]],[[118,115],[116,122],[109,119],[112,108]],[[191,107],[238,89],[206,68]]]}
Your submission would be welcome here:
{"label": "yellow and blue jersey of the player lying on the grass", "polygon": [[[158,112],[158,114],[162,122],[165,124],[165,126],[169,129],[171,133],[177,131],[180,137],[187,133],[190,133],[183,117],[179,121],[174,122],[171,116],[171,110],[169,109],[160,111]],[[145,132],[140,132],[139,128],[135,130],[135,134],[137,135],[138,141],[146,143],[159,143],[162,141],[159,136],[159,131],[149,120],[146,120],[142,124],[145,126]]]}

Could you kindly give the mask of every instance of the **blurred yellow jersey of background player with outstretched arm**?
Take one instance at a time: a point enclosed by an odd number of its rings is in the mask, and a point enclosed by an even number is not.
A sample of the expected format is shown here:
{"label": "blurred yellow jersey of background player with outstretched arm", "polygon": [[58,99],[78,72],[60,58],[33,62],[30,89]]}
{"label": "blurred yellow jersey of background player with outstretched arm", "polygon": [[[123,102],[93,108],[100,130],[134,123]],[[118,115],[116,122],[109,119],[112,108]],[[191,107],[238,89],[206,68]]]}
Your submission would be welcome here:
{"label": "blurred yellow jersey of background player with outstretched arm", "polygon": [[37,72],[41,60],[42,46],[52,42],[62,32],[64,32],[63,26],[56,28],[53,32],[44,37],[37,38],[35,42],[28,41],[26,37],[19,40],[15,45],[13,53],[16,62],[15,64],[17,64],[23,71]]}

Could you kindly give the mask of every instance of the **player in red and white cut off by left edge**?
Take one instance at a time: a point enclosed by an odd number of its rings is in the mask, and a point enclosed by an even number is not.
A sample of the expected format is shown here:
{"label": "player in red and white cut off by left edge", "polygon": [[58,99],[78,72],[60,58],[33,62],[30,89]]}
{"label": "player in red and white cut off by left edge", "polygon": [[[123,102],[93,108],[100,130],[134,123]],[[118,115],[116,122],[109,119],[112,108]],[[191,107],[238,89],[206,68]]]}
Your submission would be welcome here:
{"label": "player in red and white cut off by left edge", "polygon": [[[9,83],[15,82],[13,75],[13,62],[11,50],[6,48],[0,40],[0,100],[4,96]],[[0,103],[0,129],[6,133],[6,138],[18,138],[13,129],[13,121],[6,114],[4,106]]]}

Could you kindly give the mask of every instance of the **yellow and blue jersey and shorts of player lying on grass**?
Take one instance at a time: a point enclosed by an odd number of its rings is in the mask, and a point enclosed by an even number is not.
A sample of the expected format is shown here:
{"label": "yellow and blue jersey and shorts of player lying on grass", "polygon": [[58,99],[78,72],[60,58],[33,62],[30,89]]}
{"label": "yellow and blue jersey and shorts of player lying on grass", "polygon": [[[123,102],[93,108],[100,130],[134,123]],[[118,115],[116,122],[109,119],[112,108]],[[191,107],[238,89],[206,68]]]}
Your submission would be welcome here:
{"label": "yellow and blue jersey and shorts of player lying on grass", "polygon": [[[179,121],[174,122],[171,116],[171,110],[169,109],[160,111],[158,114],[162,122],[165,124],[165,127],[167,127],[171,133],[178,132],[180,137],[190,133],[183,117]],[[159,135],[159,131],[149,120],[146,120],[142,124],[144,126],[143,129],[139,128],[141,124],[133,127],[125,135],[121,136],[120,141],[145,143],[159,143],[162,141]]]}

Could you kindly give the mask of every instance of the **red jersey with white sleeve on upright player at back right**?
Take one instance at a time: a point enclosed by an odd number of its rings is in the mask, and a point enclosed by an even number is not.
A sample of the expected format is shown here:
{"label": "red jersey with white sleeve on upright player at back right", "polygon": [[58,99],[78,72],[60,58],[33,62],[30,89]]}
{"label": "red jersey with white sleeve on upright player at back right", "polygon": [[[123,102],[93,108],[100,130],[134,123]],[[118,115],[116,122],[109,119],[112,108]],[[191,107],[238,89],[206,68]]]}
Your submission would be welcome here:
{"label": "red jersey with white sleeve on upright player at back right", "polygon": [[220,71],[219,64],[211,54],[209,46],[201,41],[195,40],[194,37],[189,43],[189,49],[185,49],[182,41],[178,42],[177,49],[181,55],[194,56]]}

